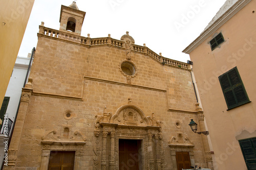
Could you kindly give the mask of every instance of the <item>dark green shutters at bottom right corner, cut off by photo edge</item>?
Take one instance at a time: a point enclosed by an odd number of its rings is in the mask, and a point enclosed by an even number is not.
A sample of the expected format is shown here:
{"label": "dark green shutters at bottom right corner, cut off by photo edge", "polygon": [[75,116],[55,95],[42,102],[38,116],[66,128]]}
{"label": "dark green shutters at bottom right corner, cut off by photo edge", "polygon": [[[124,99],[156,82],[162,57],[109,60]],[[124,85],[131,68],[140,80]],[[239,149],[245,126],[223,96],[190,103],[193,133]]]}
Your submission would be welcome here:
{"label": "dark green shutters at bottom right corner, cut off by photo edge", "polygon": [[248,170],[256,169],[256,137],[239,140]]}

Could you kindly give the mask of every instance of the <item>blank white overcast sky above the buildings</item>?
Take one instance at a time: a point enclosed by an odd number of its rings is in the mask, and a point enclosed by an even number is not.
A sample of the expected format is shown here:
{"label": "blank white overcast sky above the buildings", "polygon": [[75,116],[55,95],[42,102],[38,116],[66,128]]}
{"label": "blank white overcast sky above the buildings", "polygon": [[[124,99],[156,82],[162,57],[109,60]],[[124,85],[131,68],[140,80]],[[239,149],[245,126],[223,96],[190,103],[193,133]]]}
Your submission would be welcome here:
{"label": "blank white overcast sky above the buildings", "polygon": [[[193,42],[226,0],[77,0],[79,10],[86,12],[81,36],[120,39],[126,31],[135,44],[146,44],[163,57],[186,62],[182,53]],[[61,5],[72,0],[35,0],[18,56],[27,57],[37,44],[38,26],[59,30]]]}

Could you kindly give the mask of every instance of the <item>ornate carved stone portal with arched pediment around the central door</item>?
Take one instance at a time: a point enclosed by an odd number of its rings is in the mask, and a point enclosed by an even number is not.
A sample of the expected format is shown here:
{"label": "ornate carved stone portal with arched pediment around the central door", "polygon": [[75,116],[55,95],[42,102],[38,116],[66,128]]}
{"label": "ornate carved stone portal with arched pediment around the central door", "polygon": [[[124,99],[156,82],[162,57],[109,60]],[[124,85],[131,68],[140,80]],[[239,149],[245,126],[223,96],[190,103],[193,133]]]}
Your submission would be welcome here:
{"label": "ornate carved stone portal with arched pediment around the central door", "polygon": [[96,116],[94,169],[118,169],[119,139],[141,141],[141,155],[127,160],[126,168],[139,162],[139,169],[163,169],[162,129],[154,113],[146,117],[132,104],[120,107],[114,115],[105,110],[103,116]]}

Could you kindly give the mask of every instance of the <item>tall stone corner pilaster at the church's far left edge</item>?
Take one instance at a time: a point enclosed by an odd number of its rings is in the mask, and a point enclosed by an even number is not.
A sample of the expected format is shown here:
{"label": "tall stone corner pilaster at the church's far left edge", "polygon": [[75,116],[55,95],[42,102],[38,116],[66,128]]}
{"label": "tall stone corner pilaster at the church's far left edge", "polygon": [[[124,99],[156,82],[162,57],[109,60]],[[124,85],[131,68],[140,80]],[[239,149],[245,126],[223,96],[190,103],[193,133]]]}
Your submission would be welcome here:
{"label": "tall stone corner pilaster at the church's far left edge", "polygon": [[16,123],[14,126],[14,131],[12,134],[11,143],[8,150],[8,166],[6,166],[6,169],[12,169],[16,163],[17,159],[17,153],[18,153],[18,147],[19,142],[22,139],[22,132],[24,127],[24,122],[32,94],[32,79],[29,78],[29,82],[26,84],[25,88],[22,90],[22,96],[20,98],[20,105],[19,110],[16,118]]}

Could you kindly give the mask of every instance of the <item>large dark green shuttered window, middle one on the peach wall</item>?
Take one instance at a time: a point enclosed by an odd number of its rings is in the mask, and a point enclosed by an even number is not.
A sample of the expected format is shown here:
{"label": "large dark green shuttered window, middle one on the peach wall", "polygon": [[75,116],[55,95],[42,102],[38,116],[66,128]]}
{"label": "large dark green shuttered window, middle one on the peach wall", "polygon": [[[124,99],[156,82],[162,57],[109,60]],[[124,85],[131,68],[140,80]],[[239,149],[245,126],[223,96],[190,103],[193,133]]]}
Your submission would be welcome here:
{"label": "large dark green shuttered window, middle one on the peach wall", "polygon": [[228,110],[250,102],[237,67],[221,75],[219,80]]}

